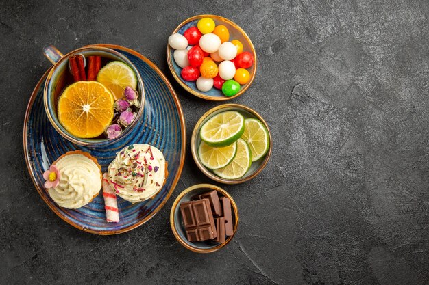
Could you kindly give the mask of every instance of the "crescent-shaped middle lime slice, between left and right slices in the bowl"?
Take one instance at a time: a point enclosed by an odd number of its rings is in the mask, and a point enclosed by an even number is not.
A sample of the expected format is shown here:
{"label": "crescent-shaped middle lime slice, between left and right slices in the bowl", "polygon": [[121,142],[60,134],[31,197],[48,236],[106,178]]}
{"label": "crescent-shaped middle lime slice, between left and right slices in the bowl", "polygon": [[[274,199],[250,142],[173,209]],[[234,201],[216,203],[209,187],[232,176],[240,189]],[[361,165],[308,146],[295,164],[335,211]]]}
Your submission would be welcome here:
{"label": "crescent-shaped middle lime slice, between left and right slices in the bowl", "polygon": [[252,165],[252,152],[243,139],[237,141],[237,153],[225,167],[214,169],[213,172],[224,179],[237,179],[243,177]]}

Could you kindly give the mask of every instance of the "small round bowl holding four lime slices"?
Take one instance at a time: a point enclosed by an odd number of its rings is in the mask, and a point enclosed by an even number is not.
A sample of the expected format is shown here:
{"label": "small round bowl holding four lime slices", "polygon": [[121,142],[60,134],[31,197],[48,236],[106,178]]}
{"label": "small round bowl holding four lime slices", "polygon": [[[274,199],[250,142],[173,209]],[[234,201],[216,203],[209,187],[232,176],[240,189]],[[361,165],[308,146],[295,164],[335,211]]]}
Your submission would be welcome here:
{"label": "small round bowl holding four lime slices", "polygon": [[224,104],[198,120],[191,137],[197,167],[212,180],[238,184],[256,177],[271,156],[267,122],[253,109]]}

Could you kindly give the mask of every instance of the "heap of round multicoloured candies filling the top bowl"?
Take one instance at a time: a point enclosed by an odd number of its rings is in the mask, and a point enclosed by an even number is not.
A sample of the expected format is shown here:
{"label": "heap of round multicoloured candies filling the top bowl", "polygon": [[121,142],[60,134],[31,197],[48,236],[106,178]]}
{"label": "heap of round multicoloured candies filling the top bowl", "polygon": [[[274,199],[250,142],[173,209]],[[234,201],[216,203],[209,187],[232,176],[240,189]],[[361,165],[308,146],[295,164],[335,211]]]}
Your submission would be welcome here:
{"label": "heap of round multicoloured candies filling the top bowl", "polygon": [[254,57],[243,52],[240,40],[230,40],[225,25],[217,25],[211,18],[201,18],[197,27],[189,27],[183,35],[169,36],[175,49],[173,58],[185,81],[196,81],[197,89],[208,92],[215,87],[225,96],[234,96],[240,85],[249,83],[251,74],[246,68],[254,64]]}

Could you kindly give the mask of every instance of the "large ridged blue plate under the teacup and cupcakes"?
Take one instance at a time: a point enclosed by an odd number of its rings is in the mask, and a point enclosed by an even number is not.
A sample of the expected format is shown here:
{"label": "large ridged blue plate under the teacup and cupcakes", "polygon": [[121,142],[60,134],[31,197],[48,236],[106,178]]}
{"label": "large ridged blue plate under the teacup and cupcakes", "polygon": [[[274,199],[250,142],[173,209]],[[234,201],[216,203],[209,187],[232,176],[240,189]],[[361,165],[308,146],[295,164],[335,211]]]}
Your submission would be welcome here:
{"label": "large ridged blue plate under the teacup and cupcakes", "polygon": [[[119,51],[136,66],[145,85],[145,110],[138,125],[116,144],[87,148],[72,144],[58,134],[50,124],[43,107],[46,72],[29,99],[24,121],[24,152],[30,176],[38,193],[59,217],[72,226],[94,234],[119,234],[132,230],[154,217],[167,202],[182,173],[186,147],[184,116],[173,87],[162,72],[143,55],[121,46],[97,44]],[[118,197],[119,223],[107,223],[103,196],[75,210],[62,208],[51,200],[45,190],[43,172],[58,157],[70,150],[89,152],[106,171],[116,152],[130,144],[151,144],[163,153],[168,162],[169,176],[153,199],[131,204]]]}

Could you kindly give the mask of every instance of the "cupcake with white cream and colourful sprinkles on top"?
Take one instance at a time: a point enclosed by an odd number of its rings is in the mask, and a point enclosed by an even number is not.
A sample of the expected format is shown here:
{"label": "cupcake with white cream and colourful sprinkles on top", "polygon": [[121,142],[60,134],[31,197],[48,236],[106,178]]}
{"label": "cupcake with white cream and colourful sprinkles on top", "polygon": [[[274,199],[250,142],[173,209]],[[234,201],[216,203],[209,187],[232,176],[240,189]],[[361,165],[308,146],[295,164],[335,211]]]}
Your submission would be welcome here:
{"label": "cupcake with white cream and colourful sprinkles on top", "polygon": [[108,180],[115,193],[132,203],[153,198],[167,176],[164,154],[148,144],[123,148],[108,167]]}

